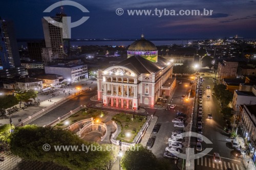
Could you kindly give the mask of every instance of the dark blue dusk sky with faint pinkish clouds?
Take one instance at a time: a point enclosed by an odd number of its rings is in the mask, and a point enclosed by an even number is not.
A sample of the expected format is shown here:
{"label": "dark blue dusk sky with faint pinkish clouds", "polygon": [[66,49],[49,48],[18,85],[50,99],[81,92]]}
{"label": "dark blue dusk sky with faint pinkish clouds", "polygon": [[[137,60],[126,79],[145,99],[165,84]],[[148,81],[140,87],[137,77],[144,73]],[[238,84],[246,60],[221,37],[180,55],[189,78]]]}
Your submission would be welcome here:
{"label": "dark blue dusk sky with faint pinkish clouds", "polygon": [[[0,16],[14,21],[17,38],[43,38],[41,18],[59,11],[43,13],[58,1],[8,0],[1,1]],[[219,38],[256,37],[256,0],[75,0],[90,12],[83,13],[71,6],[64,12],[72,22],[82,16],[90,18],[72,29],[72,38]],[[116,9],[124,14],[118,16]],[[212,16],[129,16],[126,10],[155,8],[163,10],[213,10]]]}

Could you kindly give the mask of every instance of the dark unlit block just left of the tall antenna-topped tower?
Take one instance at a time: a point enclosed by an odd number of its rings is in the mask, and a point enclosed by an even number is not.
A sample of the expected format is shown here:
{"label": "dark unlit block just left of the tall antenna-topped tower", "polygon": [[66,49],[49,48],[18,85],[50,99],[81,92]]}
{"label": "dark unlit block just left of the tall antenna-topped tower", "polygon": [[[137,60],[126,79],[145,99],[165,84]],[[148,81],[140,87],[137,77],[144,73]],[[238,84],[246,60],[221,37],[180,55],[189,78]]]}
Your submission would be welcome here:
{"label": "dark unlit block just left of the tall antenna-topped tower", "polygon": [[45,41],[28,42],[29,58],[32,61],[42,62],[42,48],[46,47]]}

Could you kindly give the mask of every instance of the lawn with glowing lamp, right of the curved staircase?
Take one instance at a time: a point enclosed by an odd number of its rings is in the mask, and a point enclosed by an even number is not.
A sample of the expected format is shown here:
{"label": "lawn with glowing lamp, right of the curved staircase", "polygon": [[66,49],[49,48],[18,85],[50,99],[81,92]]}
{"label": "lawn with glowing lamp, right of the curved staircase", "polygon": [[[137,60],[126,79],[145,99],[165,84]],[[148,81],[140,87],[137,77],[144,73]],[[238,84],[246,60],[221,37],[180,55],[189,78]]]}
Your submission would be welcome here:
{"label": "lawn with glowing lamp, right of the curved staircase", "polygon": [[117,136],[117,140],[124,142],[132,142],[139,130],[146,122],[146,116],[119,113],[112,119],[121,126],[121,133]]}

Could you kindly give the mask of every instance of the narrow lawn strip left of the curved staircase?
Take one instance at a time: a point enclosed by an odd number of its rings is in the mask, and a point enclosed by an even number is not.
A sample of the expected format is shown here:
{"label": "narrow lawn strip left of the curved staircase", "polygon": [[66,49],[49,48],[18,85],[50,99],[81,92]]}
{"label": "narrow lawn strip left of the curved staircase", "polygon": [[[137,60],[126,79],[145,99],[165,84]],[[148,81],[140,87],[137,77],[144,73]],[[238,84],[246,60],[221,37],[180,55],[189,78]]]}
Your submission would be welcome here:
{"label": "narrow lawn strip left of the curved staircase", "polygon": [[[82,109],[79,112],[71,115],[69,118],[65,120],[61,120],[60,123],[58,123],[55,127],[56,128],[67,128],[69,125],[72,125],[80,120],[87,119],[87,118],[101,118],[104,115],[106,115],[108,112],[103,111],[103,110],[98,110],[98,109]],[[68,124],[66,124],[68,122]]]}

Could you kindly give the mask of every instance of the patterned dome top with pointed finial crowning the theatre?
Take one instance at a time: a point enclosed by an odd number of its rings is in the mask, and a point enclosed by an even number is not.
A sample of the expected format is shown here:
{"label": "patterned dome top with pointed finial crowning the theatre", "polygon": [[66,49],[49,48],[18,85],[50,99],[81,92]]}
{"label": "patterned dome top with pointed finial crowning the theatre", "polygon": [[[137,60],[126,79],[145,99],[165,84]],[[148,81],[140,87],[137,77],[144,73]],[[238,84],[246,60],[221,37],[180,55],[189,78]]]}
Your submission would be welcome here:
{"label": "patterned dome top with pointed finial crowning the theatre", "polygon": [[141,39],[133,42],[127,51],[157,51],[156,45],[144,38],[144,35],[141,35]]}

